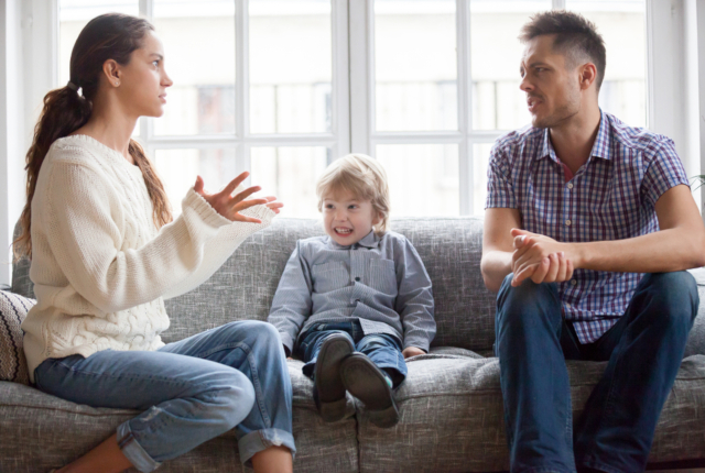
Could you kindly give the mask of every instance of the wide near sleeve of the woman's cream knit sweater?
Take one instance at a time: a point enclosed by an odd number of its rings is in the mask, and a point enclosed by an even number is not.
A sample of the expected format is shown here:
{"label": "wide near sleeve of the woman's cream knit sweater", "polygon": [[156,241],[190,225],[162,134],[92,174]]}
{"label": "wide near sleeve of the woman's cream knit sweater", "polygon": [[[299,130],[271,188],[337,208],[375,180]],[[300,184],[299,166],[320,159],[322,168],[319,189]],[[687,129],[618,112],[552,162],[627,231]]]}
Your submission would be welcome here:
{"label": "wide near sleeve of the woman's cream knit sweater", "polygon": [[57,162],[51,172],[46,201],[39,204],[52,254],[70,286],[106,314],[198,286],[269,223],[230,222],[191,189],[176,220],[143,246],[123,250],[124,209],[115,184],[80,164]]}

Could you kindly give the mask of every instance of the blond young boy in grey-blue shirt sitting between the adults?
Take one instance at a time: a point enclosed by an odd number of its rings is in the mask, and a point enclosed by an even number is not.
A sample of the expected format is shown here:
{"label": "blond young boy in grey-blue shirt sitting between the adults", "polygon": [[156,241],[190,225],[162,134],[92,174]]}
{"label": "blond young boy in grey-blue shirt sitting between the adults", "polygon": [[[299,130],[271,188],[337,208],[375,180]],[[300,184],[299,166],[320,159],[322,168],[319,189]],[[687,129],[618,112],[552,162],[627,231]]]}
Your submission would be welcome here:
{"label": "blond young boy in grey-blue shirt sitting between the adults", "polygon": [[376,160],[334,162],[316,194],[327,237],[296,242],[268,321],[286,354],[295,345],[303,359],[325,421],[344,417],[347,389],[372,424],[392,427],[404,359],[426,353],[436,332],[431,279],[411,242],[387,230],[389,187]]}

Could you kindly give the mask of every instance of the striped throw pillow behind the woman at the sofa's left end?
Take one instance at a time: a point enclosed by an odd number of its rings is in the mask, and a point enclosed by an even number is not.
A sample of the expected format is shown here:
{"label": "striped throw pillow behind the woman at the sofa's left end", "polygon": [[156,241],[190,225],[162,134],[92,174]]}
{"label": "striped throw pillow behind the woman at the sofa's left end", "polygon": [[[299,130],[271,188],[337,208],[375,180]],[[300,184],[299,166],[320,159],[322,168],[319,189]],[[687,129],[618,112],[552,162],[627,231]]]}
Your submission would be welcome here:
{"label": "striped throw pillow behind the woman at the sofa's left end", "polygon": [[0,381],[29,384],[20,326],[36,301],[0,290]]}

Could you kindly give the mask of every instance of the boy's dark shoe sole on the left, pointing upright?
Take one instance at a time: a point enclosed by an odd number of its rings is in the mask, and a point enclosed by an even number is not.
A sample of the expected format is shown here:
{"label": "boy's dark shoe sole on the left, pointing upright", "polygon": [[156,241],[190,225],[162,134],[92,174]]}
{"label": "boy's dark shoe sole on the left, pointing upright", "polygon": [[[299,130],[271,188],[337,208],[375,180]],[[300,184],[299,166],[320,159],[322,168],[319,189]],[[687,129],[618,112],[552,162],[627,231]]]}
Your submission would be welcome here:
{"label": "boy's dark shoe sole on the left, pointing upright", "polygon": [[314,369],[314,400],[323,420],[336,422],[345,417],[347,399],[340,380],[340,364],[355,351],[345,336],[332,336],[323,342]]}

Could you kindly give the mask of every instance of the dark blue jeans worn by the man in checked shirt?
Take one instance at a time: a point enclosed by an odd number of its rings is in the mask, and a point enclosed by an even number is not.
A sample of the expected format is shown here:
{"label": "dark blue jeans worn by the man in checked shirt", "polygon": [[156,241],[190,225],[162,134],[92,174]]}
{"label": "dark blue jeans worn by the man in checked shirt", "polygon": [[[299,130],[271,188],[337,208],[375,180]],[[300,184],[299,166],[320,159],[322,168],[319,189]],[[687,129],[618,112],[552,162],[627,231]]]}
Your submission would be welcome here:
{"label": "dark blue jeans worn by the man in checked shirt", "polygon": [[[587,345],[563,320],[555,283],[511,287],[512,276],[496,318],[511,471],[644,471],[697,315],[693,276],[644,275],[625,315]],[[608,362],[575,430],[565,360]]]}

